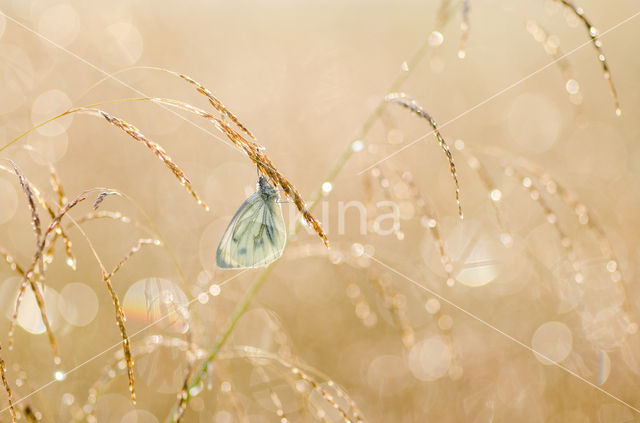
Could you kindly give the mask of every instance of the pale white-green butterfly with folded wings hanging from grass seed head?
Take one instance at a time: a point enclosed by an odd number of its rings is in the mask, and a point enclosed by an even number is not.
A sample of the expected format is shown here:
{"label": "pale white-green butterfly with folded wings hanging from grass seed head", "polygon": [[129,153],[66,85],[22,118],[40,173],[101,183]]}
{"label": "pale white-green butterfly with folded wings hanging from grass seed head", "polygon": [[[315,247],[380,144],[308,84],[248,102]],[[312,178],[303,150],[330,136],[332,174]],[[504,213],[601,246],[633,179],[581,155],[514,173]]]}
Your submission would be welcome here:
{"label": "pale white-green butterfly with folded wings hanging from grass seed head", "polygon": [[222,269],[262,267],[277,260],[287,240],[278,193],[267,178],[245,200],[224,232],[216,263]]}

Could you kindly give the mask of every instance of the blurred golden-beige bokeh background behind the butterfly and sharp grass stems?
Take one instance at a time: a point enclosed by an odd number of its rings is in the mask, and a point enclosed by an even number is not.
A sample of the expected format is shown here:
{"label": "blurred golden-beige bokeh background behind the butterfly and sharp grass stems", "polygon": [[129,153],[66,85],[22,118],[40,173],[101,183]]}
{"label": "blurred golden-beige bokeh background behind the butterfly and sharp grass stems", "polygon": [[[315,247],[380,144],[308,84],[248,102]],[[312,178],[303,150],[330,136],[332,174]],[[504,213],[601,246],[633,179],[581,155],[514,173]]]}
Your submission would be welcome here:
{"label": "blurred golden-beige bokeh background behind the butterfly and sharp grass stems", "polygon": [[[631,0],[576,1],[600,32],[638,12]],[[2,145],[72,106],[149,96],[211,110],[158,70],[94,86],[104,72],[162,67],[210,89],[305,199],[323,189],[313,213],[331,249],[290,231],[224,354],[191,392],[185,421],[640,421],[640,18],[601,39],[618,117],[599,52],[558,1],[3,0],[0,10]],[[394,89],[441,124],[463,221],[429,123],[395,104],[374,112],[398,78]],[[82,224],[108,269],[141,238],[170,249],[174,259],[143,245],[112,280],[138,402],[100,267],[69,220],[77,268],[58,241],[45,279],[61,367],[29,292],[15,348],[6,348],[20,277],[5,265],[2,355],[14,400],[28,396],[17,405],[23,415],[29,407],[44,421],[161,422],[194,351],[211,350],[261,274],[215,266],[256,171],[197,116],[146,101],[100,108],[163,146],[211,211],[142,144],[87,114],[29,133],[2,158],[52,204],[49,164],[70,199],[94,187],[132,199],[109,196],[100,210],[120,215]],[[100,191],[71,216],[91,213]],[[8,172],[0,204],[0,246],[27,268],[31,214]],[[291,230],[297,211],[282,207]],[[399,227],[385,219],[390,210]],[[0,418],[9,421],[8,411]]]}

